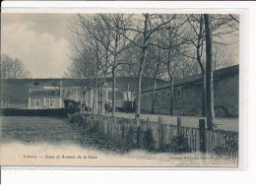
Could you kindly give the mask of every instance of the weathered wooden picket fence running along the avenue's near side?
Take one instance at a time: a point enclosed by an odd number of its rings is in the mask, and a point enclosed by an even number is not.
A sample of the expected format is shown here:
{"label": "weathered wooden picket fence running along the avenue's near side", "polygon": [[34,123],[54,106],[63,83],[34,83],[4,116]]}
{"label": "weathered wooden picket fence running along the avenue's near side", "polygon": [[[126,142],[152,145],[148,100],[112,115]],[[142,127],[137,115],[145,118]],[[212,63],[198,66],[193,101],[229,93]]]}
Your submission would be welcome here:
{"label": "weathered wooden picket fence running along the avenue's near side", "polygon": [[[83,116],[81,120],[86,128],[95,128],[112,142],[126,147],[147,149],[152,145],[153,150],[163,151],[174,138],[183,137],[189,152],[213,153],[238,161],[238,133],[208,130],[205,119],[199,120],[199,127],[183,127],[180,117],[177,117],[177,125],[164,124],[161,118],[158,122],[152,122],[149,118],[147,121],[140,120],[139,125],[136,120],[99,115]],[[147,136],[149,139],[152,136],[152,140],[147,142]]]}

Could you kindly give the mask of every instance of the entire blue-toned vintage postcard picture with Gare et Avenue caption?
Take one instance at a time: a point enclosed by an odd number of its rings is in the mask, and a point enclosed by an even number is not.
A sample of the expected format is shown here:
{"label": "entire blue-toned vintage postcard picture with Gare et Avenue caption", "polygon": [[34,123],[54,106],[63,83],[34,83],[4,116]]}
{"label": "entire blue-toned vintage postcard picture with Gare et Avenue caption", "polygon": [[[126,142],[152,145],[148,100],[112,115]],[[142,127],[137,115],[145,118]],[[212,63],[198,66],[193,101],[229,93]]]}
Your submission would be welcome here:
{"label": "entire blue-toned vintage postcard picture with Gare et Avenue caption", "polygon": [[240,15],[1,13],[1,165],[239,167]]}

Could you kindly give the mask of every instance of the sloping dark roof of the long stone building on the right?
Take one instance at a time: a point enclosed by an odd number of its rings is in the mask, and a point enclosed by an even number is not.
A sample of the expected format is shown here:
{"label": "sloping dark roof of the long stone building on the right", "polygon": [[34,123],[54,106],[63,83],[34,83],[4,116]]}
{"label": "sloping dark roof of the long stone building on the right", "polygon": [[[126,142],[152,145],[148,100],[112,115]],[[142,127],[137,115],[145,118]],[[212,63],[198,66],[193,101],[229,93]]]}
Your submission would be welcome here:
{"label": "sloping dark roof of the long stone building on the right", "polygon": [[[229,75],[234,75],[234,74],[238,74],[238,73],[239,73],[239,65],[234,65],[234,66],[230,66],[230,67],[226,67],[226,68],[222,68],[222,69],[214,71],[214,79],[227,77]],[[202,82],[202,75],[197,74],[197,75],[190,76],[187,78],[177,79],[173,82],[173,86],[178,87],[178,86],[184,86],[187,84],[201,83],[201,82]],[[156,90],[166,89],[169,87],[170,87],[170,83],[168,82],[168,83],[159,85]],[[148,89],[142,90],[142,93],[148,93],[148,92],[152,92],[152,91],[153,91],[153,87],[150,87]]]}

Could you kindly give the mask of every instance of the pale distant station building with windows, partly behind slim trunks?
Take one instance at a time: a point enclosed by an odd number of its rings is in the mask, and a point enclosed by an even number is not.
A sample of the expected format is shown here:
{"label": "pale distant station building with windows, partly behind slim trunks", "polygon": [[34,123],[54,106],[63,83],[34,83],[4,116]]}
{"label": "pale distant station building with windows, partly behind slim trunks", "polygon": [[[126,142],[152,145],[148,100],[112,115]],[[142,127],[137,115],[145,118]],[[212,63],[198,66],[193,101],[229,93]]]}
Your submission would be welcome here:
{"label": "pale distant station building with windows, partly behind slim trunks", "polygon": [[[57,86],[49,87],[49,85]],[[131,92],[124,94],[118,89],[115,89],[115,95],[117,108],[123,107],[124,95],[128,99],[133,99]],[[73,100],[82,103],[83,109],[97,113],[100,109],[104,112],[106,102],[112,105],[112,87],[111,83],[106,82],[102,87],[98,85],[96,89],[85,90],[62,80],[54,81],[53,84],[34,82],[28,97],[29,109],[64,108],[65,100]]]}

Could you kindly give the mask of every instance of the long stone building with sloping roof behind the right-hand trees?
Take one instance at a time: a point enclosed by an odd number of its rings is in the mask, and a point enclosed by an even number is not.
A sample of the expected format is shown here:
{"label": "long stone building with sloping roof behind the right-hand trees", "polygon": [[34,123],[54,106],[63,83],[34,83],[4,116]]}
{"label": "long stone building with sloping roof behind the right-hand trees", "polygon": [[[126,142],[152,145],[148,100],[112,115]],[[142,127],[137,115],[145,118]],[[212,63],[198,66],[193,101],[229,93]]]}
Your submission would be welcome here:
{"label": "long stone building with sloping roof behind the right-hand trees", "polygon": [[[195,75],[174,81],[173,114],[201,116],[202,76]],[[152,110],[153,88],[142,91],[141,109]],[[239,65],[223,68],[214,72],[214,101],[216,116],[238,117],[239,106]],[[170,85],[157,87],[155,113],[169,114]]]}

